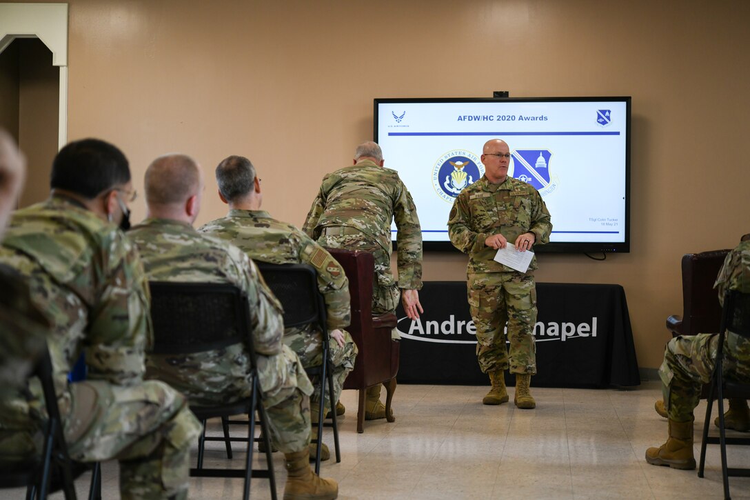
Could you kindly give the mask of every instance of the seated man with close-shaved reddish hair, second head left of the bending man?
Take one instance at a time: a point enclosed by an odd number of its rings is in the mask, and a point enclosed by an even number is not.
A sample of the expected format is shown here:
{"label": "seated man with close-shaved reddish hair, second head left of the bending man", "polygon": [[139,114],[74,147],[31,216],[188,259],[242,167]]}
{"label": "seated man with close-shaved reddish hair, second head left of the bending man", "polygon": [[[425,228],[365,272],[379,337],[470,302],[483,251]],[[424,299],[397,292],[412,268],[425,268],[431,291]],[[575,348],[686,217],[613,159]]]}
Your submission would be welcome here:
{"label": "seated man with close-shaved reddish hair, second head left of the bending man", "polygon": [[[336,498],[336,482],[313,474],[308,463],[313,387],[297,354],[281,342],[281,305],[239,248],[193,229],[202,192],[202,172],[192,158],[157,158],[145,173],[148,218],[127,235],[139,249],[148,279],[230,283],[246,294],[263,404],[287,466],[284,498]],[[249,363],[244,345],[236,344],[178,357],[149,354],[147,373],[181,390],[193,405],[223,404],[250,396]]]}

